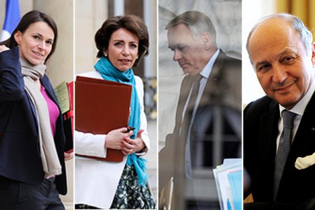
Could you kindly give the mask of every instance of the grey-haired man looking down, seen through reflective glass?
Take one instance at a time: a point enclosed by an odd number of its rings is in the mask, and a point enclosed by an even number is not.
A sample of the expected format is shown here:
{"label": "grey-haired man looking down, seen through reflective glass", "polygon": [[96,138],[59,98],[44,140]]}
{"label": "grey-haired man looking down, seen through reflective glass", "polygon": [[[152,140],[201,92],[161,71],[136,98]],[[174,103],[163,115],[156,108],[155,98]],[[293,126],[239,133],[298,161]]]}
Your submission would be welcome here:
{"label": "grey-haired man looking down, seen through reflective glass", "polygon": [[[197,137],[204,137],[209,130],[212,134],[209,127],[213,124],[214,110],[219,110],[220,116],[237,112],[237,123],[228,117],[226,121],[233,126],[238,124],[233,133],[240,133],[241,61],[217,48],[215,28],[201,12],[187,11],[176,16],[166,30],[173,60],[187,75],[180,87],[174,131],[167,136],[165,148],[159,153],[159,186],[162,189],[175,176],[175,194],[180,196],[184,192],[183,178],[193,179]],[[230,157],[237,156],[239,145],[240,141],[233,145]],[[206,149],[205,156],[210,159],[212,151]]]}

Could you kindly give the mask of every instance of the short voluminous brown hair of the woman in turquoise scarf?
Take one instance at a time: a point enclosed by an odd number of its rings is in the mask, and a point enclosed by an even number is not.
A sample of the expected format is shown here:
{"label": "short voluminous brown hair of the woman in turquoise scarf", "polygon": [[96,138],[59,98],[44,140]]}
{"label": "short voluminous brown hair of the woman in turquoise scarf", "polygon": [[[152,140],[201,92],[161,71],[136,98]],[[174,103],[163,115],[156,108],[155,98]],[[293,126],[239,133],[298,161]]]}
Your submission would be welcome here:
{"label": "short voluminous brown hair of the woman in turquoise scarf", "polygon": [[136,15],[113,16],[105,20],[103,25],[95,34],[96,48],[99,50],[97,58],[104,55],[104,50],[108,50],[109,40],[112,34],[120,28],[127,29],[135,34],[139,39],[138,59],[133,66],[136,66],[139,60],[149,54],[149,33],[144,21]]}

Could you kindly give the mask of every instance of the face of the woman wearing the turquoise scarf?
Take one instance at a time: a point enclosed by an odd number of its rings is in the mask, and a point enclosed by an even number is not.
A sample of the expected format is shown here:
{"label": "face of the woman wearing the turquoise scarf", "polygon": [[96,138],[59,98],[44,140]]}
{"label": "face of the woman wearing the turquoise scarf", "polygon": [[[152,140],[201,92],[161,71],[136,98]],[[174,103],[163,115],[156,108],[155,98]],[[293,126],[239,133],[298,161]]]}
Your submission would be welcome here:
{"label": "face of the woman wearing the turquoise scarf", "polygon": [[130,69],[138,55],[138,37],[125,28],[120,28],[109,40],[108,50],[104,51],[107,58],[119,71]]}

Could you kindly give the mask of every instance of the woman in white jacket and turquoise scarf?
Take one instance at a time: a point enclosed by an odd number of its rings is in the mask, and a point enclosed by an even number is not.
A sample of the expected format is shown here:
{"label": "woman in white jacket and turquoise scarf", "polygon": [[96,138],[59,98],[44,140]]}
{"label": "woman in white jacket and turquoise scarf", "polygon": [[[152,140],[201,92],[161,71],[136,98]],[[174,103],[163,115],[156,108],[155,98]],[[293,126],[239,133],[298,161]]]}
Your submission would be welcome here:
{"label": "woman in white jacket and turquoise scarf", "polygon": [[143,83],[132,70],[148,54],[147,27],[135,15],[110,17],[96,32],[95,43],[99,50],[97,57],[100,58],[94,66],[95,71],[80,76],[131,85],[128,125],[135,130],[127,132],[127,128],[118,128],[106,135],[76,131],[76,154],[105,157],[106,148],[121,150],[124,154],[123,162],[76,156],[76,208],[154,209],[155,202],[145,173],[145,160],[141,157],[150,148],[143,105]]}

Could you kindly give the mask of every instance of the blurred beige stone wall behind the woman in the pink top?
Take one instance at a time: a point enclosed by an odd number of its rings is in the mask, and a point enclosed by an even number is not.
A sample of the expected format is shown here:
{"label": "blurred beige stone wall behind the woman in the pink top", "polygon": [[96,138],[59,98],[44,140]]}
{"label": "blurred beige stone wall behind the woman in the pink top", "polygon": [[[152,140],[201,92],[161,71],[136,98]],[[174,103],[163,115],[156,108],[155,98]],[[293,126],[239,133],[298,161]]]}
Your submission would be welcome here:
{"label": "blurred beige stone wall behind the woman in the pink top", "polygon": [[[73,81],[73,0],[23,0],[19,1],[21,17],[37,9],[48,14],[57,24],[58,41],[56,50],[46,63],[53,87],[62,81]],[[0,0],[0,30],[5,18],[6,0]],[[68,194],[61,196],[66,209],[73,209],[73,160],[66,162]]]}

